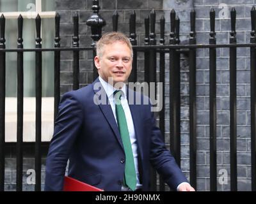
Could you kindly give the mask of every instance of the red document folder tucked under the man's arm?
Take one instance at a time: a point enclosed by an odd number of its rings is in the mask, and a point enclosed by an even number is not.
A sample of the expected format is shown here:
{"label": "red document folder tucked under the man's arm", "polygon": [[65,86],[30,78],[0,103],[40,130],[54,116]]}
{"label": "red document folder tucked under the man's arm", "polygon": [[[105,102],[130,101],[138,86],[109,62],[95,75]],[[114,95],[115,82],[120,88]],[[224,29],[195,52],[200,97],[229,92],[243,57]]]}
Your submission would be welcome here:
{"label": "red document folder tucked under the man's arm", "polygon": [[63,191],[103,191],[71,177],[65,177]]}

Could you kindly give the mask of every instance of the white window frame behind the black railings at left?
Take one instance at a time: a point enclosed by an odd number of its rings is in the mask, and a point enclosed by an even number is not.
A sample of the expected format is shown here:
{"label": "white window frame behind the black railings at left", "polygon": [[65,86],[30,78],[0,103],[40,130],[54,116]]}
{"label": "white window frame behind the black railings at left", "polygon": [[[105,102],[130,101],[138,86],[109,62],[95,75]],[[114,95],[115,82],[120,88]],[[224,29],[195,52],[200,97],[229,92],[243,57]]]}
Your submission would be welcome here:
{"label": "white window frame behind the black railings at left", "polygon": [[[0,12],[5,18],[54,18],[56,11],[42,11],[42,0],[36,0],[35,11]],[[42,32],[42,29],[41,29]],[[23,141],[35,142],[35,97],[24,98]],[[52,138],[54,125],[54,97],[42,98],[42,142]],[[17,142],[17,98],[5,98],[5,142]]]}

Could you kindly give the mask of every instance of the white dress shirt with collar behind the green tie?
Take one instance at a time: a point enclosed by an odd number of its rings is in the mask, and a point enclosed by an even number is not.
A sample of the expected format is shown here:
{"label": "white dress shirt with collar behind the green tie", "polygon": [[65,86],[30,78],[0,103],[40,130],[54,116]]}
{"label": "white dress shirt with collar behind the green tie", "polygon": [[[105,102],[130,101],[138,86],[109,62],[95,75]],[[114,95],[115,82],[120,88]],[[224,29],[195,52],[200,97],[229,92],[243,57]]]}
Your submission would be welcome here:
{"label": "white dress shirt with collar behind the green tie", "polygon": [[[115,100],[114,100],[114,92],[117,90],[115,87],[112,85],[108,84],[108,82],[105,82],[101,77],[99,77],[100,83],[102,84],[104,90],[106,91],[106,94],[108,96],[109,103],[111,105],[113,115],[116,120],[116,107],[115,107]],[[141,188],[142,185],[140,184],[139,180],[139,170],[138,170],[138,145],[137,145],[137,140],[136,140],[136,135],[134,131],[134,124],[132,120],[132,115],[131,115],[131,110],[129,108],[129,104],[127,101],[127,92],[126,92],[126,86],[124,85],[122,89],[120,89],[122,92],[121,96],[121,104],[124,109],[125,113],[125,118],[127,121],[127,128],[129,131],[129,136],[131,140],[131,145],[132,145],[132,154],[134,157],[134,164],[135,164],[135,170],[136,170],[136,179],[137,179],[137,184],[136,184],[136,189]],[[116,120],[117,124],[117,120]],[[127,187],[122,186],[122,191],[128,190]]]}

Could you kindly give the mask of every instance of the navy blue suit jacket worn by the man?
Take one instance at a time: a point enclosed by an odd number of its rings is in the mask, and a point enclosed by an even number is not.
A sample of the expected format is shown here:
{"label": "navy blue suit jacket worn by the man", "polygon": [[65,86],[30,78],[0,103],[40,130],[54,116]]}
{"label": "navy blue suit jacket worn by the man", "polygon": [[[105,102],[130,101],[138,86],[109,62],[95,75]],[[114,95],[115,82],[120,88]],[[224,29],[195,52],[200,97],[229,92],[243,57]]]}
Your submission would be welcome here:
{"label": "navy blue suit jacket worn by the man", "polygon": [[[93,90],[95,83],[100,83],[99,79],[61,98],[46,161],[45,191],[62,191],[68,159],[70,177],[104,191],[121,190],[125,167],[122,139],[111,105],[97,105],[93,101],[94,96],[96,100],[100,98],[99,94],[106,96],[103,88]],[[129,94],[149,101],[146,96],[127,89],[127,96]],[[143,191],[148,191],[150,163],[172,189],[188,182],[164,146],[150,104],[130,103]]]}

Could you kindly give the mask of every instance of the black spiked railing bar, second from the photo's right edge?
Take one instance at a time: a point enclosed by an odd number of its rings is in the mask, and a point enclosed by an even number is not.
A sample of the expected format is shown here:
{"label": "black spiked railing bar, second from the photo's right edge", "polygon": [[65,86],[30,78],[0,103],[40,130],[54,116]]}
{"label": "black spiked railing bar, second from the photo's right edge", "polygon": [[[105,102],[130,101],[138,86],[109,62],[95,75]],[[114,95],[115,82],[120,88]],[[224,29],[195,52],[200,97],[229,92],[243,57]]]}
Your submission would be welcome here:
{"label": "black spiked railing bar, second from the photo's right edge", "polygon": [[[230,44],[236,44],[236,10],[230,11]],[[237,191],[236,47],[230,47],[230,190]]]}

